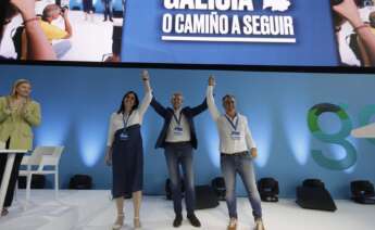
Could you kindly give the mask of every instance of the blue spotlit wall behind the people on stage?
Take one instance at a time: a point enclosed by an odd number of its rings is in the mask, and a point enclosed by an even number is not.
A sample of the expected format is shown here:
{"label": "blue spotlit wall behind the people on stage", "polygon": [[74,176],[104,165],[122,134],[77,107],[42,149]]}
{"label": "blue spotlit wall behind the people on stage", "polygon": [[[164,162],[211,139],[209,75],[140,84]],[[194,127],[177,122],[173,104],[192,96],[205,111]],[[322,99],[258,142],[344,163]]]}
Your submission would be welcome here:
{"label": "blue spotlit wall behind the people on stage", "polygon": [[[9,93],[17,78],[33,81],[33,98],[42,106],[42,124],[36,129],[35,144],[65,145],[61,187],[67,188],[70,177],[75,174],[88,174],[93,178],[95,189],[109,189],[111,170],[103,163],[109,117],[125,91],[135,90],[142,95],[140,69],[16,65],[1,65],[0,69],[2,95]],[[333,159],[347,153],[340,145],[316,139],[307,118],[313,105],[329,102],[348,113],[353,128],[360,126],[361,114],[368,111],[375,114],[368,110],[374,107],[375,76],[150,69],[154,94],[165,105],[174,91],[184,93],[187,105],[201,103],[210,74],[216,76],[217,100],[227,92],[237,97],[238,110],[249,117],[259,145],[258,178],[276,178],[282,196],[295,196],[296,186],[311,177],[321,178],[337,199],[349,197],[351,180],[375,182],[372,142],[347,137],[355,150],[354,165],[342,170],[322,167],[311,156],[312,150],[322,150]],[[375,120],[373,115],[370,117]],[[342,126],[333,113],[324,113],[318,123],[327,133],[335,133]],[[204,184],[220,176],[218,140],[208,112],[197,117],[196,125],[199,139],[195,153],[196,182]],[[153,148],[161,126],[162,119],[150,107],[142,126],[147,194],[162,194],[167,177],[163,151]],[[239,194],[245,194],[242,184],[237,187]]]}

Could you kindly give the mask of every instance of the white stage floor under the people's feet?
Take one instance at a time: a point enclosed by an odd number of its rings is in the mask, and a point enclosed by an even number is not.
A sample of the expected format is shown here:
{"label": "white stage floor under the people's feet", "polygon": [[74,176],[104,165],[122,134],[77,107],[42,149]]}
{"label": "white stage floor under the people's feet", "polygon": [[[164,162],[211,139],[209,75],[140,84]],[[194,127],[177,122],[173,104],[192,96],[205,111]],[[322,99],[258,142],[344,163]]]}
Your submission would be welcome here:
{"label": "white stage floor under the people's feet", "polygon": [[[26,210],[24,191],[17,194],[10,214],[0,218],[0,229],[39,229],[39,230],[108,230],[114,221],[115,206],[110,201],[110,192],[93,191],[60,191],[59,201],[51,190],[33,190],[32,203]],[[125,226],[133,229],[133,203],[126,201]],[[351,201],[336,201],[335,213],[300,208],[293,200],[280,200],[278,203],[262,203],[264,223],[267,230],[373,230],[375,229],[375,205],[360,205]],[[200,229],[226,229],[227,209],[225,202],[212,209],[197,210],[202,222]],[[238,199],[239,228],[252,229],[253,220],[247,199]],[[142,229],[164,230],[172,227],[174,218],[172,202],[162,196],[145,196],[141,208]],[[185,214],[184,214],[185,218]],[[184,219],[178,229],[196,229]]]}

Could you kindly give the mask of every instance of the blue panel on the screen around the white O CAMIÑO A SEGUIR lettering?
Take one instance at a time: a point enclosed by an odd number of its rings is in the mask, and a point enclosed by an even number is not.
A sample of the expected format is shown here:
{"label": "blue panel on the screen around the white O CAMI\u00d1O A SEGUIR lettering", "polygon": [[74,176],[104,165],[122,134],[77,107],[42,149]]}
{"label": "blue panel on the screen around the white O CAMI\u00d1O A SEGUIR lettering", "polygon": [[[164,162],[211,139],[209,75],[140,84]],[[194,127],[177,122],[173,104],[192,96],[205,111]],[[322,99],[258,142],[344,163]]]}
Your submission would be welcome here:
{"label": "blue panel on the screen around the white O CAMI\u00d1O A SEGUIR lettering", "polygon": [[[290,1],[291,5],[285,12],[263,10],[263,2],[262,0],[254,0],[254,11],[216,11],[216,13],[227,15],[290,15],[293,17],[296,43],[163,41],[161,36],[166,35],[162,33],[163,14],[210,14],[214,11],[166,10],[163,7],[163,1],[127,0],[122,61],[248,65],[338,65],[338,51],[329,1]],[[277,3],[277,1],[275,2]],[[210,35],[196,36],[207,37]],[[234,35],[229,33],[227,36],[233,37]],[[262,36],[241,35],[237,37]],[[277,36],[270,35],[266,37]]]}

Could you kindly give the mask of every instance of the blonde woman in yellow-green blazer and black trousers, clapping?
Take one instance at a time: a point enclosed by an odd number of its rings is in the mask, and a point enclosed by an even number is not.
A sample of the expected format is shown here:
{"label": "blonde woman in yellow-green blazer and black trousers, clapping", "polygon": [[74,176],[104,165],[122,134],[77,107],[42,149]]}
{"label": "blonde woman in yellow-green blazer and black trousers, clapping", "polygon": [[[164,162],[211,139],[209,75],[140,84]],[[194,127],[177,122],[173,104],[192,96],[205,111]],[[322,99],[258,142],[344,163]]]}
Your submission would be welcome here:
{"label": "blonde woman in yellow-green blazer and black trousers, clapping", "polygon": [[[5,149],[32,150],[33,127],[40,124],[40,105],[32,100],[32,84],[26,79],[14,82],[9,97],[0,98],[0,142],[5,143]],[[12,205],[16,179],[23,154],[16,154],[8,191],[4,201],[2,216],[8,214],[8,207]],[[0,182],[7,165],[7,155],[0,154]]]}

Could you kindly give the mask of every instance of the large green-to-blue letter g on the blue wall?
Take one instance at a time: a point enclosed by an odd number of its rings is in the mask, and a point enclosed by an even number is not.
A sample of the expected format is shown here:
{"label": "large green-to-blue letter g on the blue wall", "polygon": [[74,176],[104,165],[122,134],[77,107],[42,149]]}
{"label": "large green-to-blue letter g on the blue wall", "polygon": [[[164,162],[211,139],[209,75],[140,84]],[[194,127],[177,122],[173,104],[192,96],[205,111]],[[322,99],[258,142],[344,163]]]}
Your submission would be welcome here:
{"label": "large green-to-blue letter g on the blue wall", "polygon": [[[320,125],[318,117],[323,113],[334,113],[341,120],[341,129],[337,133],[325,133]],[[367,117],[365,117],[367,118]],[[346,138],[350,135],[352,130],[352,123],[347,114],[347,112],[339,105],[330,103],[316,104],[309,110],[308,114],[309,129],[312,135],[326,143],[338,144],[342,146],[346,151],[346,156],[341,159],[333,159],[326,157],[321,150],[312,150],[312,157],[322,167],[332,170],[345,170],[353,166],[357,162],[357,151],[355,148]]]}

